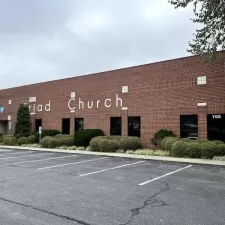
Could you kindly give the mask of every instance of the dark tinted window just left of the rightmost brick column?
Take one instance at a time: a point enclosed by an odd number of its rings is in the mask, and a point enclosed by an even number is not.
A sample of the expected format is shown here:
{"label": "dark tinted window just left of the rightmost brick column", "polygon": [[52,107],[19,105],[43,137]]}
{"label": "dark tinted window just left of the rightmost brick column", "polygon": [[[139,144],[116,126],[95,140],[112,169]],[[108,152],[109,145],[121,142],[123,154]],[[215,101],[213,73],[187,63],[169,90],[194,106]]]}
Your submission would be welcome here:
{"label": "dark tinted window just left of the rightmost brick column", "polygon": [[181,138],[198,137],[198,116],[181,115],[180,116],[180,136]]}

